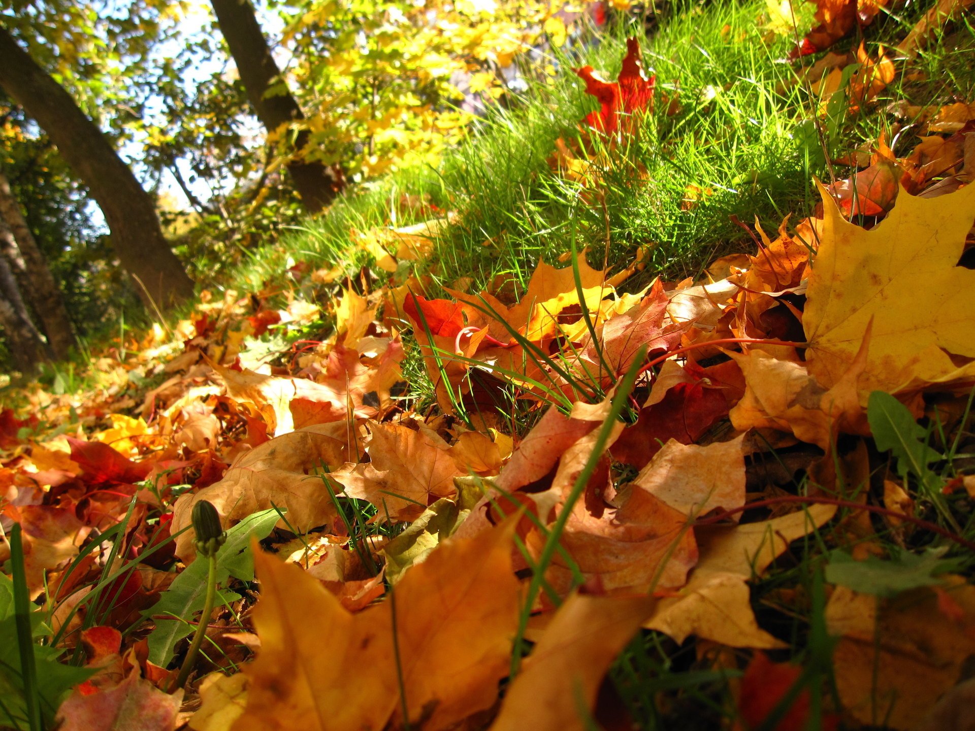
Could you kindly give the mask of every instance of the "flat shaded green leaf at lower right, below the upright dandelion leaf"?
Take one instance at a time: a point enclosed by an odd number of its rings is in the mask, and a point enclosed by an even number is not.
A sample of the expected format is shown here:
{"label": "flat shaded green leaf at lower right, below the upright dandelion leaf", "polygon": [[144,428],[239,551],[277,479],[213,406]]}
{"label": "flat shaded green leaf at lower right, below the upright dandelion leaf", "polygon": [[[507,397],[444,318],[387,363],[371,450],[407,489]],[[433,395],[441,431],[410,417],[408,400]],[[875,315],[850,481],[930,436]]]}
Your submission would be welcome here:
{"label": "flat shaded green leaf at lower right, below the upright dandelion leaf", "polygon": [[904,551],[890,560],[871,556],[862,561],[834,551],[826,566],[826,580],[860,594],[897,596],[918,587],[940,584],[942,574],[956,571],[959,561],[942,558],[946,550],[928,550],[920,556]]}

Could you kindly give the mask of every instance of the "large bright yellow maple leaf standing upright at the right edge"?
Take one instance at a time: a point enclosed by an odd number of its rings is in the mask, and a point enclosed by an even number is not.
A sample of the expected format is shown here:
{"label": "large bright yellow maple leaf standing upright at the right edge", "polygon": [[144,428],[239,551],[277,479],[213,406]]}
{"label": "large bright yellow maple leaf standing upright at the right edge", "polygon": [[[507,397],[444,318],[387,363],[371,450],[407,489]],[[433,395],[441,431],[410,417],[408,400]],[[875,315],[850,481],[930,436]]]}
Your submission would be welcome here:
{"label": "large bright yellow maple leaf standing upright at the right edge", "polygon": [[809,373],[836,384],[873,320],[862,390],[975,380],[975,272],[956,266],[975,185],[938,198],[901,190],[870,231],[846,221],[822,186],[820,194],[823,230],[802,314]]}

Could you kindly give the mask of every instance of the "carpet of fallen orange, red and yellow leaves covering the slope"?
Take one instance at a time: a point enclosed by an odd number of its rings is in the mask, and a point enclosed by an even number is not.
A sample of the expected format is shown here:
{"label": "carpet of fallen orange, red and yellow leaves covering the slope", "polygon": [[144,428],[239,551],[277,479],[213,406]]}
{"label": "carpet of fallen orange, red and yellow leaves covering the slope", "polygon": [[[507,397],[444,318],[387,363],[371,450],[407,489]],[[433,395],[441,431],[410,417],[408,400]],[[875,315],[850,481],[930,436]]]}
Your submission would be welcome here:
{"label": "carpet of fallen orange, red and yellow leaves covering the slope", "polygon": [[[625,147],[637,44],[616,82],[579,73],[588,134]],[[86,404],[36,395],[58,428],[4,411],[2,722],[944,727],[975,653],[961,106],[702,281],[627,290],[640,261],[573,250],[524,291],[437,290],[410,264],[448,218],[372,230],[385,284],[299,265],[286,307],[205,296]]]}

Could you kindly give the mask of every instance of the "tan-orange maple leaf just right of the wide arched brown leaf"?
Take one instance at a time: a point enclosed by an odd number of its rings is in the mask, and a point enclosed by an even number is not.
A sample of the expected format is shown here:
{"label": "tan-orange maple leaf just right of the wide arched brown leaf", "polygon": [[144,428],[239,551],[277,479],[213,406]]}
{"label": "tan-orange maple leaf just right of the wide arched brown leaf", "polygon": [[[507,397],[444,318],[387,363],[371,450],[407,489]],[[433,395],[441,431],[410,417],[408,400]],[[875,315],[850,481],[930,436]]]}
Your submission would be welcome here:
{"label": "tan-orange maple leaf just right of the wide arched brown leaf", "polygon": [[453,479],[462,477],[442,440],[427,430],[370,421],[366,452],[371,461],[332,474],[345,494],[369,500],[381,520],[411,520],[442,497],[457,492]]}

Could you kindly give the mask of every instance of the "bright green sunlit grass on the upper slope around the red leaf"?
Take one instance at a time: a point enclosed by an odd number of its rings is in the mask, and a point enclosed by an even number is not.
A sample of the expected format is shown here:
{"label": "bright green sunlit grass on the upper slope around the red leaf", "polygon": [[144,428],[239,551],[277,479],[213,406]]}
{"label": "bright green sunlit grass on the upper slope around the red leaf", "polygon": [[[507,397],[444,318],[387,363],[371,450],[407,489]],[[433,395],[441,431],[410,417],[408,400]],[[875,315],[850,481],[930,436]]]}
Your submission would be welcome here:
{"label": "bright green sunlit grass on the upper slope around the red leaf", "polygon": [[[490,112],[438,170],[403,171],[354,191],[279,247],[258,251],[238,284],[259,286],[289,256],[353,270],[366,259],[352,246],[351,230],[388,225],[394,214],[401,225],[437,214],[400,210],[403,193],[426,194],[440,209],[459,213],[437,242],[432,262],[419,267],[446,286],[470,277],[478,289],[501,277],[524,288],[537,262],[564,253],[571,236],[590,248],[593,265],[605,258],[621,268],[638,247],[647,248],[648,265],[634,288],[658,274],[672,280],[697,276],[716,256],[753,248],[734,216],[749,225],[758,218],[773,231],[787,214],[795,222],[813,211],[813,179],[830,177],[822,135],[838,155],[875,141],[881,131],[892,136],[895,120],[882,111],[890,100],[947,102],[971,98],[975,89],[975,72],[965,60],[975,48],[975,32],[960,23],[917,63],[902,66],[921,71],[920,77],[902,71],[876,104],[855,114],[834,109],[835,118],[817,121],[818,99],[795,83],[799,64],[786,60],[794,39],[762,40],[767,32],[757,19],[764,9],[761,2],[720,2],[673,11],[643,44],[644,67],[657,76],[657,108],[625,149],[601,150],[600,140],[593,140],[591,160],[601,184],[588,194],[553,173],[548,160],[557,138],[577,144],[578,121],[595,107],[570,69],[589,63],[615,78],[626,27],[582,53],[563,49],[555,79],[525,69],[527,91],[508,108]],[[801,32],[810,14],[801,7],[797,12]],[[903,37],[916,16],[879,18],[867,43],[871,56]],[[849,39],[837,48],[856,43]],[[666,115],[661,92],[680,94],[677,115]],[[899,140],[904,153],[916,141],[910,129]],[[687,210],[690,186],[711,194]]]}

